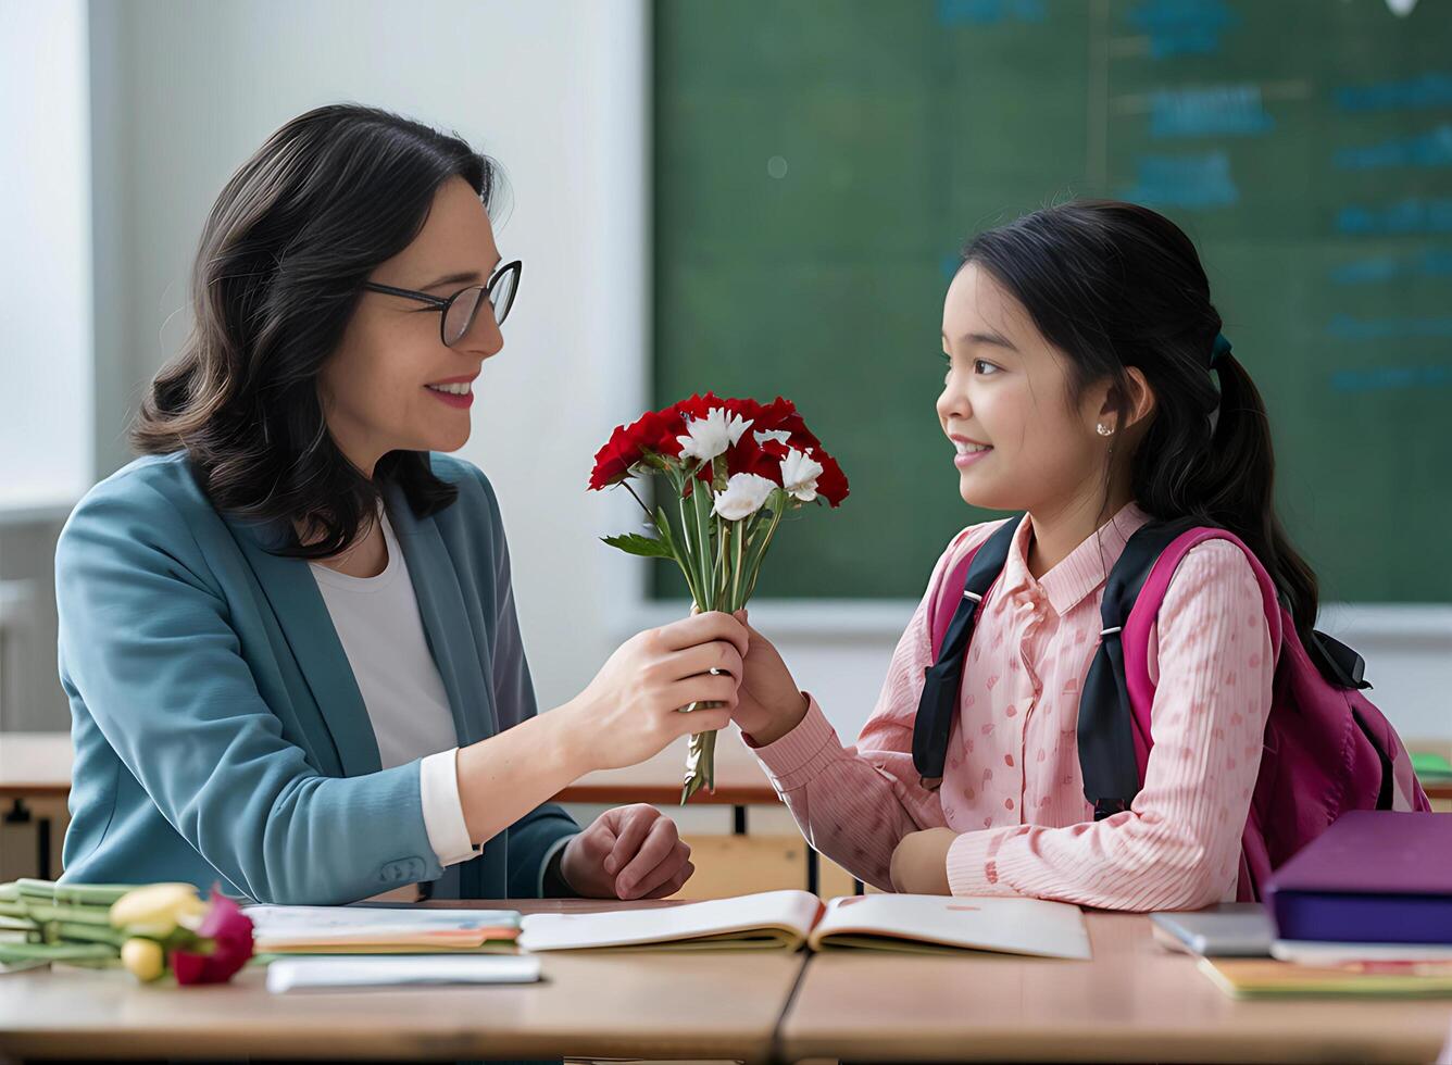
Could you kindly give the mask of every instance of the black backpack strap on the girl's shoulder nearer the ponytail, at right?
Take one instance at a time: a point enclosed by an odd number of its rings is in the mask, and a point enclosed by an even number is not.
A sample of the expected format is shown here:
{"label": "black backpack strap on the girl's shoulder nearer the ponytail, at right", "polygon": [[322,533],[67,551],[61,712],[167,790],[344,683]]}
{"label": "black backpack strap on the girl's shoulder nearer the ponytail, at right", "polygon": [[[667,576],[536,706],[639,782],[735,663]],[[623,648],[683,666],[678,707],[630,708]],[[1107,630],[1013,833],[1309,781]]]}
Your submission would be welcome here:
{"label": "black backpack strap on the girl's shoulder nearer the ponytail, at right", "polygon": [[1109,570],[1099,606],[1099,650],[1079,695],[1079,769],[1085,798],[1093,804],[1096,821],[1128,810],[1140,794],[1134,710],[1124,679],[1124,644],[1119,638],[1124,622],[1165,548],[1189,530],[1204,527],[1205,522],[1198,518],[1150,522],[1130,537]]}

